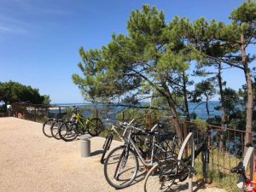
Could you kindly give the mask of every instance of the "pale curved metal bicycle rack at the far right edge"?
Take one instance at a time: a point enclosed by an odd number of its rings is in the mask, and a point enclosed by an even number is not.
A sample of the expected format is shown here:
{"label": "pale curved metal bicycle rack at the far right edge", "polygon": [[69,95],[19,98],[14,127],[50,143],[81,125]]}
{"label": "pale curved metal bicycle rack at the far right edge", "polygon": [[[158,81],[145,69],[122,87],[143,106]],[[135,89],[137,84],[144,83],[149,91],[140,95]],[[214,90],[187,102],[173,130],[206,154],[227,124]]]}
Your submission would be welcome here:
{"label": "pale curved metal bicycle rack at the far right edge", "polygon": [[[245,170],[247,170],[247,166],[249,164],[253,165],[253,149],[254,149],[253,147],[247,148],[247,153],[245,154],[244,159],[242,161]],[[250,168],[251,168],[250,177],[252,178],[252,176],[253,176],[253,174],[252,174],[253,166],[251,166]],[[239,178],[238,178],[238,181],[236,183],[236,186],[239,189],[243,189],[243,183],[244,183],[244,178],[240,175]]]}

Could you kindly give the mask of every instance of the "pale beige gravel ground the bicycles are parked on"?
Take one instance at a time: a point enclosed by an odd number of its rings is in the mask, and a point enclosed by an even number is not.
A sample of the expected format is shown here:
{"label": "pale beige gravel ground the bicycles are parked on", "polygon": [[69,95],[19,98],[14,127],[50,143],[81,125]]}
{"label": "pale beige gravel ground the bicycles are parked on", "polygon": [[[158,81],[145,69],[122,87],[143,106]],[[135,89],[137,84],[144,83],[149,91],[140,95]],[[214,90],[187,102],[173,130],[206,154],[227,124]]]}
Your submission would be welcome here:
{"label": "pale beige gravel ground the bicycles are parked on", "polygon": [[[98,192],[116,191],[105,180],[101,158],[104,138],[91,138],[91,157],[81,158],[79,140],[71,143],[45,137],[42,124],[0,118],[0,191]],[[114,142],[113,146],[119,145]],[[179,186],[185,185],[181,183]],[[119,191],[142,192],[137,181]],[[176,189],[174,191],[186,191]],[[224,192],[223,189],[195,191]]]}

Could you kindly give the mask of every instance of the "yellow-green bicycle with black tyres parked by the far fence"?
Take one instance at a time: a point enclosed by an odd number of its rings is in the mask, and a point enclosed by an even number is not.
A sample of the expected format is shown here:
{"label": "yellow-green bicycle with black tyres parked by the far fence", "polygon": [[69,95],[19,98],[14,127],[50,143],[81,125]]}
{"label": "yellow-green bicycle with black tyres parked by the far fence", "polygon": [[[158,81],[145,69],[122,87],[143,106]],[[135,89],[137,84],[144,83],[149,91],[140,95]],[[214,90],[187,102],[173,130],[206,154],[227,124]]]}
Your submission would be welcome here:
{"label": "yellow-green bicycle with black tyres parked by the far fence", "polygon": [[59,136],[65,142],[71,142],[80,134],[88,132],[92,137],[98,136],[103,130],[102,120],[99,118],[84,118],[78,113],[78,108],[73,108],[72,118],[65,121],[59,128]]}

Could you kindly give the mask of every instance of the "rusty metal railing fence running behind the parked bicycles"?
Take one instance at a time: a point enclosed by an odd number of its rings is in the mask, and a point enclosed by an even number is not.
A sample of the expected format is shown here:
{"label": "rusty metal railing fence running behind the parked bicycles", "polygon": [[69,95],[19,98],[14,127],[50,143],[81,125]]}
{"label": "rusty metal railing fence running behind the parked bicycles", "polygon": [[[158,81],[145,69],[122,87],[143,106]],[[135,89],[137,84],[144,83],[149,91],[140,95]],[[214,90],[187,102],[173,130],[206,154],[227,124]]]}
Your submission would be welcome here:
{"label": "rusty metal railing fence running behind the parked bicycles", "polygon": [[[23,119],[30,119],[38,121],[39,119],[44,119],[45,116],[49,114],[49,111],[54,113],[62,113],[66,111],[71,113],[69,105],[62,106],[43,106],[43,105],[27,105],[27,104],[18,104],[13,105],[12,114],[15,117]],[[196,145],[201,143],[205,135],[204,130],[210,132],[209,137],[209,146],[210,146],[210,157],[209,157],[209,170],[210,177],[217,177],[218,183],[233,183],[236,186],[236,176],[230,174],[230,169],[238,164],[245,152],[245,136],[249,134],[252,137],[251,132],[235,130],[228,126],[221,127],[217,125],[207,125],[205,123],[198,124],[196,122],[185,121],[182,119],[172,119],[166,114],[167,110],[152,110],[152,108],[126,108],[120,111],[119,113],[108,114],[109,111],[113,110],[109,108],[104,108],[103,106],[91,106],[83,105],[82,113],[84,116],[92,117],[96,116],[101,118],[105,123],[108,123],[108,120],[122,120],[128,121],[129,119],[137,118],[139,121],[142,121],[146,127],[152,127],[155,122],[164,122],[166,130],[174,130],[172,125],[173,120],[178,121],[181,125],[183,132],[183,137],[189,133],[189,129],[193,127],[194,129],[194,140],[195,148]],[[50,109],[50,110],[49,110]],[[119,108],[120,109],[120,108]],[[195,160],[195,163],[200,165],[200,158]],[[199,167],[200,170],[200,167]]]}

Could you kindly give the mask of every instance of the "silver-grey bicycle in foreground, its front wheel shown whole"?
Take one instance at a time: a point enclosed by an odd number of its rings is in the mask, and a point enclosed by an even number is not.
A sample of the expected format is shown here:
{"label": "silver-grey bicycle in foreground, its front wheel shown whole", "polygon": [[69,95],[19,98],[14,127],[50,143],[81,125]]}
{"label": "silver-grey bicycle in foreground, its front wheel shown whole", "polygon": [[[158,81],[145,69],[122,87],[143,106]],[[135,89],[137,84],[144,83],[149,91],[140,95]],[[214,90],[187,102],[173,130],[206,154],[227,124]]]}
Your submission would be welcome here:
{"label": "silver-grey bicycle in foreground, its front wheel shown whole", "polygon": [[[158,126],[158,124],[154,125],[149,131],[143,131],[131,125],[125,128],[123,133],[125,140],[124,145],[113,148],[104,163],[104,176],[113,188],[123,189],[135,180],[139,168],[137,159],[142,162],[143,166],[151,167],[159,158],[159,156],[156,155],[157,153],[169,154],[167,155],[168,157],[175,155],[170,148],[168,148],[169,150],[163,148],[163,146],[156,141],[156,136],[160,133],[160,131],[155,130]],[[128,133],[128,136],[126,136],[126,133]],[[137,147],[136,141],[134,140],[137,136],[152,137],[148,139],[150,145],[146,153]],[[175,137],[173,139],[175,139]],[[150,156],[145,158],[145,154],[150,154]]]}

